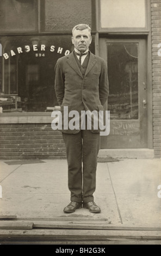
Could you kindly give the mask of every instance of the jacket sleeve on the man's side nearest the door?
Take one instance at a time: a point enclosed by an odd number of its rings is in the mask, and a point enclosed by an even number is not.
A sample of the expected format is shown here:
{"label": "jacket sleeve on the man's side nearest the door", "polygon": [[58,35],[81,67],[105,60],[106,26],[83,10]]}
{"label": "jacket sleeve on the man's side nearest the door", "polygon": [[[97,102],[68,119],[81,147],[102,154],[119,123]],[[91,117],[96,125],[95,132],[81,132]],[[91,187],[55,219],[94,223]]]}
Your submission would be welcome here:
{"label": "jacket sleeve on the man's side nearest the door", "polygon": [[101,75],[100,75],[100,81],[99,81],[99,95],[100,95],[100,101],[102,105],[104,105],[104,103],[107,101],[108,94],[109,94],[109,82],[108,82],[108,75],[107,75],[107,65],[104,62],[104,59],[102,59],[102,68],[101,68]]}

